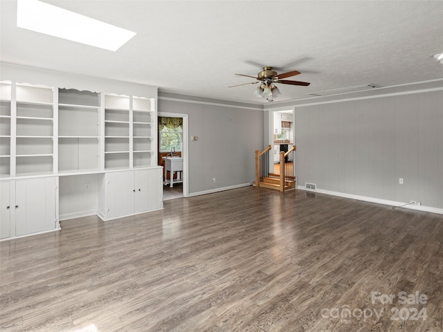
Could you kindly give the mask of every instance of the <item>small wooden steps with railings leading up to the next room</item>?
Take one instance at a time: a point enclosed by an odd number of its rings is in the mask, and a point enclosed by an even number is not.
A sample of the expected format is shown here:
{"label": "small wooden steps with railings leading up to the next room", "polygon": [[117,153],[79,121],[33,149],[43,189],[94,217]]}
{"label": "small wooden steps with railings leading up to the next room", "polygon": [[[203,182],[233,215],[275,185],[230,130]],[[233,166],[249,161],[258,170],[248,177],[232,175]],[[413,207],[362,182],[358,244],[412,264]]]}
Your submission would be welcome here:
{"label": "small wooden steps with railings leading up to the next room", "polygon": [[294,145],[289,151],[280,151],[280,167],[279,174],[269,172],[269,150],[271,145],[268,145],[263,151],[255,151],[255,183],[256,187],[265,187],[273,190],[295,189],[296,177],[294,175],[293,160],[296,151]]}

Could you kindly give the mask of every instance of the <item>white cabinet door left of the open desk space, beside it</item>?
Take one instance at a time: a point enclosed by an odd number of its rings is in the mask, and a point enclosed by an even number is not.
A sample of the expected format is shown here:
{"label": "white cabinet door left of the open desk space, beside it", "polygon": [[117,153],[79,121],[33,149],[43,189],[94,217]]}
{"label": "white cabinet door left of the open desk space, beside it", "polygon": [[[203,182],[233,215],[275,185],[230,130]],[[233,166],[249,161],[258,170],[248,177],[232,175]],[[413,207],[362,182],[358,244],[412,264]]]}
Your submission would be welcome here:
{"label": "white cabinet door left of the open desk space, beside it", "polygon": [[15,181],[15,235],[57,228],[56,178]]}

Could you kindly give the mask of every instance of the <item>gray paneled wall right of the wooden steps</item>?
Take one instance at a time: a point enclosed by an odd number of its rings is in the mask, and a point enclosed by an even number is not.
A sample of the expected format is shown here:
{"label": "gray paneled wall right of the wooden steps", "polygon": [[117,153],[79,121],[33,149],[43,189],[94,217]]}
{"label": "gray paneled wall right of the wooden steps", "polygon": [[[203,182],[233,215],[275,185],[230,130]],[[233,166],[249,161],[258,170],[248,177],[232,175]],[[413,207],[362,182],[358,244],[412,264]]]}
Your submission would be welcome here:
{"label": "gray paneled wall right of the wooden steps", "polygon": [[298,185],[443,208],[443,91],[296,106],[295,129]]}

